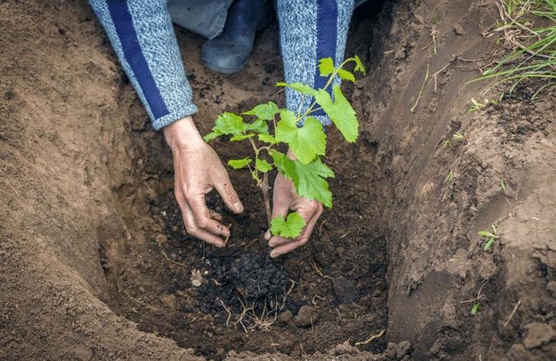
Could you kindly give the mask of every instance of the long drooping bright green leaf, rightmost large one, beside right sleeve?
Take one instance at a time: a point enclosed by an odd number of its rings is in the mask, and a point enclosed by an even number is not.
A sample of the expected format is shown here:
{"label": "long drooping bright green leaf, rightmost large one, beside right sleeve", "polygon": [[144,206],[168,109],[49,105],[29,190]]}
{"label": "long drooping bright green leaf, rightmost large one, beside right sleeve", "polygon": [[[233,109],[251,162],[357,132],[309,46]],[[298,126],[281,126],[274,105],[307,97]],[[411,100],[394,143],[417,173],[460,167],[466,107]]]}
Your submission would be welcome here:
{"label": "long drooping bright green leaf, rightmost large one, beside right sleeve", "polygon": [[351,104],[338,85],[334,85],[334,102],[325,90],[318,90],[315,94],[317,103],[330,117],[336,128],[342,133],[347,142],[353,143],[359,136],[359,121]]}

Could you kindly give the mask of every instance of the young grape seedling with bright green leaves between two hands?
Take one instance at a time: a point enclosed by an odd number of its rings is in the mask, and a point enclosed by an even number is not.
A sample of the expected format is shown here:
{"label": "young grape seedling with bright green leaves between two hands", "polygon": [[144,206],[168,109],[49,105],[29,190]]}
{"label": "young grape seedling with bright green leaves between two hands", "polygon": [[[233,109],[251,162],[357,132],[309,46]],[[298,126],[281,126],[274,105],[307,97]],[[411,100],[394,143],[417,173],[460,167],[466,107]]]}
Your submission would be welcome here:
{"label": "young grape seedling with bright green leaves between two hands", "polygon": [[[354,63],[353,72],[344,69],[350,63]],[[327,178],[334,177],[334,172],[322,162],[326,156],[327,135],[314,113],[323,110],[347,142],[355,142],[359,136],[359,121],[355,111],[341,87],[333,83],[336,76],[355,82],[353,73],[365,72],[361,60],[354,56],[334,67],[332,58],[323,58],[318,68],[320,76],[328,78],[322,89],[313,89],[302,83],[277,83],[278,87],[289,87],[300,92],[302,99],[305,96],[313,99],[311,106],[304,112],[301,106],[297,112],[293,112],[269,101],[241,115],[224,112],[216,119],[211,133],[204,136],[206,142],[223,135],[228,136],[230,142],[250,142],[252,154],[246,158],[229,160],[228,165],[234,169],[247,168],[251,172],[263,192],[268,226],[273,235],[295,238],[300,235],[305,221],[297,212],[290,213],[286,219],[271,219],[268,172],[272,169],[277,169],[291,180],[300,196],[332,208],[332,192]],[[254,117],[254,120],[248,122],[244,117]],[[293,157],[279,151],[284,144]]]}

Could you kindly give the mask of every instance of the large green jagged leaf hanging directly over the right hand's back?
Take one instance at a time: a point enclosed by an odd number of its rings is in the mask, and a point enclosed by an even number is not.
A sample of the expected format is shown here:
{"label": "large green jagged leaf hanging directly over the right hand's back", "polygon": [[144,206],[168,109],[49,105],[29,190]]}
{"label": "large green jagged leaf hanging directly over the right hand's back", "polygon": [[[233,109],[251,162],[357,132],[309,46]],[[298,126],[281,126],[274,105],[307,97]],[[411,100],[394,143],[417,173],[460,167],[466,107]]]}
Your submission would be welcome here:
{"label": "large green jagged leaf hanging directly over the right hand's back", "polygon": [[295,161],[293,183],[297,194],[307,199],[316,199],[328,208],[332,208],[332,192],[328,189],[326,181],[326,178],[330,177],[334,177],[334,172],[320,158],[308,165],[299,160]]}

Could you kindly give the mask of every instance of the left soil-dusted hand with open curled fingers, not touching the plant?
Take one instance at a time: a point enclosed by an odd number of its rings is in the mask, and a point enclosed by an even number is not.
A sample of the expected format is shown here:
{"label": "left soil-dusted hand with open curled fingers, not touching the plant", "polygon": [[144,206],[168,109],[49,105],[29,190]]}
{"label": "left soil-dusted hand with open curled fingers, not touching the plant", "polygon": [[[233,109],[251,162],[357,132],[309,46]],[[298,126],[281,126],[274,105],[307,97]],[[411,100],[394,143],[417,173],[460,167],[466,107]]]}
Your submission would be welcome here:
{"label": "left soil-dusted hand with open curled fingers, not touching the plant", "polygon": [[226,169],[203,140],[191,117],[166,126],[164,136],[174,155],[174,195],[186,230],[210,244],[224,246],[219,236],[228,237],[230,230],[215,220],[220,215],[206,207],[204,196],[216,188],[230,210],[243,212]]}

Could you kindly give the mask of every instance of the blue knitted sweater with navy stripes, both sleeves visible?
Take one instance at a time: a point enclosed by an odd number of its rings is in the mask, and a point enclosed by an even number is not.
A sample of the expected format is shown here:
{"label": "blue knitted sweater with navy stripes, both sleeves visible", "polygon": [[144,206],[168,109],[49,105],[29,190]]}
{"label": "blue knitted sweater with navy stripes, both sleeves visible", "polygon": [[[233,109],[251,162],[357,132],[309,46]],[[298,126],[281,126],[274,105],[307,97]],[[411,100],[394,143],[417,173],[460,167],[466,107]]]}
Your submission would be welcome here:
{"label": "blue knitted sweater with navy stripes, both sleeves visible", "polygon": [[[158,130],[193,115],[197,107],[166,0],[89,2],[153,127]],[[353,0],[277,0],[286,82],[325,85],[326,79],[318,74],[318,60],[331,57],[336,66],[343,61],[353,3]],[[299,94],[286,90],[287,108],[297,110],[300,101]],[[302,108],[310,103],[311,99],[304,99]],[[319,118],[327,123],[324,113]]]}

